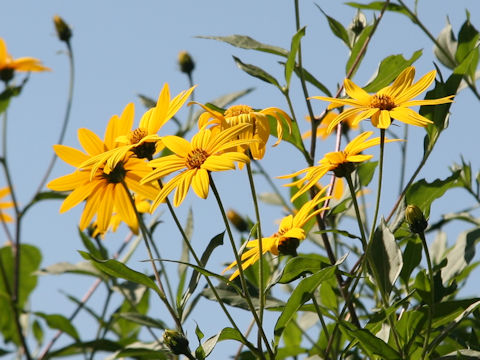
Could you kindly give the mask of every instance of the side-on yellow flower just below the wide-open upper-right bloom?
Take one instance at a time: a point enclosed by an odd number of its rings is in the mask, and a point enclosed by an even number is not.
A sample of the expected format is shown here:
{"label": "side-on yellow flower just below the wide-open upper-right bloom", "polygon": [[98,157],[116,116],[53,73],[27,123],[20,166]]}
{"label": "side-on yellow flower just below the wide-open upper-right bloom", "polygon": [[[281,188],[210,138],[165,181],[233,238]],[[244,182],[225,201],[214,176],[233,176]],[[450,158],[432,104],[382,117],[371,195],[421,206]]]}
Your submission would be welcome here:
{"label": "side-on yellow flower just below the wide-open upper-right bloom", "polygon": [[[280,179],[287,179],[306,173],[305,177],[284,185],[301,186],[297,193],[292,196],[292,201],[317,184],[327,172],[333,171],[336,177],[345,177],[355,169],[356,163],[371,159],[373,155],[364,155],[360,153],[372,146],[380,144],[379,137],[367,140],[372,134],[372,131],[361,133],[355,139],[350,141],[343,151],[334,151],[325,154],[325,156],[318,161],[318,165],[316,166],[302,169],[293,174],[278,176]],[[392,141],[399,140],[385,140],[385,143]]]}

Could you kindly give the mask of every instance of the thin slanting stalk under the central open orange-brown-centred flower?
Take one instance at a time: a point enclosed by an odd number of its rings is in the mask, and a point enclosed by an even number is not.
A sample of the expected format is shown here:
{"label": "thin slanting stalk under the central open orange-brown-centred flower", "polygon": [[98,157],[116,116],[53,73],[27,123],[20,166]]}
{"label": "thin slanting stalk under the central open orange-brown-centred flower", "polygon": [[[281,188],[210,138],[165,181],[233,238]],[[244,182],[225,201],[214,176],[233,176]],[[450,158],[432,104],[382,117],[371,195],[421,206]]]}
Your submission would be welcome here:
{"label": "thin slanting stalk under the central open orange-brown-centred flower", "polygon": [[245,296],[245,300],[247,301],[248,307],[250,308],[250,311],[255,318],[255,322],[257,323],[258,326],[258,331],[261,333],[261,336],[263,338],[263,341],[265,343],[265,346],[267,348],[268,354],[270,355],[270,358],[273,360],[275,359],[275,354],[273,353],[270,344],[268,342],[267,336],[265,335],[265,332],[263,330],[262,324],[260,322],[260,319],[258,317],[258,314],[255,310],[255,306],[252,303],[252,299],[250,298],[250,294],[248,293],[248,288],[247,288],[247,283],[245,281],[245,274],[243,272],[243,267],[242,267],[242,262],[240,259],[240,255],[238,254],[237,246],[235,245],[235,240],[233,239],[233,234],[232,234],[232,229],[230,228],[230,224],[228,222],[227,214],[225,213],[225,209],[222,204],[222,200],[220,198],[220,194],[218,193],[217,187],[215,186],[215,182],[213,181],[212,176],[209,174],[210,178],[210,187],[212,188],[213,194],[215,195],[215,199],[217,200],[218,207],[220,209],[220,213],[222,214],[223,222],[225,223],[225,227],[227,230],[228,238],[230,240],[230,244],[232,245],[232,250],[235,255],[235,260],[237,261],[237,268],[240,273],[240,282],[242,284],[242,289],[243,289],[243,295]]}

